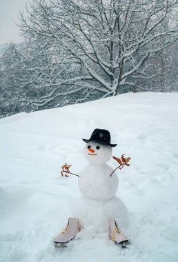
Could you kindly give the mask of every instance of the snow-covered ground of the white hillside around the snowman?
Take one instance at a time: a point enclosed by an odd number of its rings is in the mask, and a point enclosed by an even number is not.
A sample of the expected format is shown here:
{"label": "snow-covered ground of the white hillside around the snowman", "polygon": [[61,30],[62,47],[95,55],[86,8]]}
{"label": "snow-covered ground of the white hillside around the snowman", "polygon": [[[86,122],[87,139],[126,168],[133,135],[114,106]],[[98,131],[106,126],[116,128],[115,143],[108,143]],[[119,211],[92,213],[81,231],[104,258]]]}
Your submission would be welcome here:
{"label": "snow-covered ground of the white hillside around the snowman", "polygon": [[[117,172],[132,245],[121,250],[108,234],[88,232],[55,249],[80,196],[77,177],[62,178],[60,168],[86,165],[81,139],[95,128],[110,130],[113,155],[132,158]],[[122,94],[1,119],[0,156],[1,262],[178,261],[178,94]]]}

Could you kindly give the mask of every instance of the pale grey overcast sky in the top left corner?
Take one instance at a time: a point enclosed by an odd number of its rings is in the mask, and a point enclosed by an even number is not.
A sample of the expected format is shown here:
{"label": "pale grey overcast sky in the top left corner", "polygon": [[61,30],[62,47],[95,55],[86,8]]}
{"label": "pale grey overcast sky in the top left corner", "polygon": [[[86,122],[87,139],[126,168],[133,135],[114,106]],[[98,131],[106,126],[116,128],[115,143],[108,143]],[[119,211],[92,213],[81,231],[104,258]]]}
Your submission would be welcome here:
{"label": "pale grey overcast sky in the top left corner", "polygon": [[0,0],[0,45],[13,41],[19,43],[19,10],[23,10],[30,0]]}

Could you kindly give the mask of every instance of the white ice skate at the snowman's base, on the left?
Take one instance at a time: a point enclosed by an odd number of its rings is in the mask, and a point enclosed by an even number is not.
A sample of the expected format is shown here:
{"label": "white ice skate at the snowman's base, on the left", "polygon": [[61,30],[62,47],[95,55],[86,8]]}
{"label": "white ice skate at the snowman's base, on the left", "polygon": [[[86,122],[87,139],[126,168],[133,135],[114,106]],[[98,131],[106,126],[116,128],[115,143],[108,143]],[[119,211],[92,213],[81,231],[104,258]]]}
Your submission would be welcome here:
{"label": "white ice skate at the snowman's base, on the left", "polygon": [[68,225],[66,226],[65,230],[60,232],[55,237],[55,247],[65,247],[65,243],[75,238],[76,234],[79,232],[79,219],[75,219],[70,217],[68,219]]}

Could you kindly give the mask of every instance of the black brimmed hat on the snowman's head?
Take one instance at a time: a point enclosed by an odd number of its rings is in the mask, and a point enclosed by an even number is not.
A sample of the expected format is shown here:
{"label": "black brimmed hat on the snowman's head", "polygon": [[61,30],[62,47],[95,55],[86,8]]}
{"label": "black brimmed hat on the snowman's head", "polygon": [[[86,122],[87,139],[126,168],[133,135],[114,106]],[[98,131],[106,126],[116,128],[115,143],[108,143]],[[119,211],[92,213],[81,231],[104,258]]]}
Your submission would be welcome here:
{"label": "black brimmed hat on the snowman's head", "polygon": [[112,148],[117,145],[117,144],[110,143],[110,132],[108,130],[99,129],[99,128],[95,129],[92,132],[90,139],[83,139],[83,141],[86,143],[90,141],[104,143],[106,145],[110,145]]}

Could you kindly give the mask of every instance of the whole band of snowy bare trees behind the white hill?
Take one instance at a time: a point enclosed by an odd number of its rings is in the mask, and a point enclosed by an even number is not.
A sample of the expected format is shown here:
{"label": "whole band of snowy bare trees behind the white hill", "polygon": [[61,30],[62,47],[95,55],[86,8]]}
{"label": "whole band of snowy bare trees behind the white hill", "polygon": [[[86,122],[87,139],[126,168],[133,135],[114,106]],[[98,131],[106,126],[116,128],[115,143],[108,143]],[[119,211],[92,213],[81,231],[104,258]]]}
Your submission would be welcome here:
{"label": "whole band of snowy bare trees behind the white hill", "polygon": [[33,0],[0,47],[0,117],[178,91],[177,0]]}

